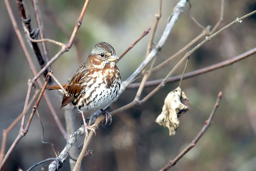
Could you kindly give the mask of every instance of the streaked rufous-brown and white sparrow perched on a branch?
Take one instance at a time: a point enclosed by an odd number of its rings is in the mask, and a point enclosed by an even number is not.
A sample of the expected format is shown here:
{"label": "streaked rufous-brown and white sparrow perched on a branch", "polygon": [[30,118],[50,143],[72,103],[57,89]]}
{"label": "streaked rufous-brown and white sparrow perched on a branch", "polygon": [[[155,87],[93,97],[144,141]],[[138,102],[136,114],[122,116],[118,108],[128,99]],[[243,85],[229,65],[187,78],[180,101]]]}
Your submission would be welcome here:
{"label": "streaked rufous-brown and white sparrow perched on a branch", "polygon": [[[62,85],[68,95],[63,93],[60,108],[72,103],[81,112],[86,136],[88,130],[95,133],[95,125],[88,126],[84,114],[93,114],[109,106],[120,89],[121,77],[117,60],[119,58],[115,49],[109,43],[100,42],[92,48],[86,62],[79,66],[72,79]],[[48,86],[47,89],[61,91],[58,85]]]}

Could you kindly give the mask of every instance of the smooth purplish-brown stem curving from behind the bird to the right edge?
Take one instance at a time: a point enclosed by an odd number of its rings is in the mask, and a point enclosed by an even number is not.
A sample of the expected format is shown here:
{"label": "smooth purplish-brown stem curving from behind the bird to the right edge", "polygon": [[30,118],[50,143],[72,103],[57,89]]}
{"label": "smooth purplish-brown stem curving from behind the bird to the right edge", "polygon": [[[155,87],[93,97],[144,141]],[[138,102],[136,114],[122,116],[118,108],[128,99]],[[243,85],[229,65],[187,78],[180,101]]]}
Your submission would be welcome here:
{"label": "smooth purplish-brown stem curving from behind the bird to the right edge", "polygon": [[[198,75],[201,75],[201,74],[204,74],[204,73],[208,73],[208,72],[211,72],[211,71],[214,71],[216,69],[219,69],[219,68],[222,68],[222,67],[226,67],[226,66],[229,66],[229,65],[232,65],[233,63],[236,63],[240,60],[243,60],[247,57],[250,57],[252,55],[254,55],[256,53],[256,48],[253,48],[251,50],[248,50],[236,57],[233,57],[233,58],[230,58],[228,60],[225,60],[223,62],[219,62],[217,64],[213,64],[213,65],[210,65],[210,66],[207,66],[207,67],[204,67],[204,68],[201,68],[201,69],[198,69],[196,71],[193,71],[193,72],[189,72],[189,73],[186,73],[183,77],[183,79],[188,79],[188,78],[192,78],[192,77],[195,77],[195,76],[198,76]],[[171,82],[176,82],[176,81],[179,81],[181,79],[181,75],[177,75],[177,76],[174,76],[174,77],[171,77],[167,80],[167,83],[171,83]],[[158,80],[154,80],[154,81],[147,81],[145,83],[145,87],[153,87],[153,86],[157,86],[158,84],[160,84],[161,82],[163,81],[163,79],[158,79]],[[140,87],[140,84],[141,83],[132,83],[130,84],[127,89],[136,89],[136,88],[139,88]]]}

